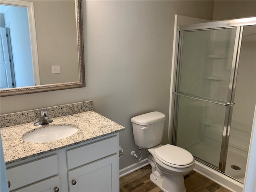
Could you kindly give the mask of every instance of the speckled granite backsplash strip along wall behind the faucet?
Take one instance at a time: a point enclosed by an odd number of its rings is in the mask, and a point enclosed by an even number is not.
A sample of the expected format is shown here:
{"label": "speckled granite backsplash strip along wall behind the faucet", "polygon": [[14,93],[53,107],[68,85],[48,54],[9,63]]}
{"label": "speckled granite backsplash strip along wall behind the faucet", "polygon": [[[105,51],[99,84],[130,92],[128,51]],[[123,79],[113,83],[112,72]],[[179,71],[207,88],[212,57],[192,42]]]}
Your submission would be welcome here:
{"label": "speckled granite backsplash strip along wall behind the faucet", "polygon": [[[47,115],[49,118],[56,118],[66,115],[72,115],[82,113],[86,111],[92,111],[92,100],[85,102],[78,102],[54,107],[48,107]],[[36,122],[41,117],[41,110],[29,110],[18,113],[5,114],[0,116],[0,127],[10,127],[19,124],[25,124],[29,122]]]}

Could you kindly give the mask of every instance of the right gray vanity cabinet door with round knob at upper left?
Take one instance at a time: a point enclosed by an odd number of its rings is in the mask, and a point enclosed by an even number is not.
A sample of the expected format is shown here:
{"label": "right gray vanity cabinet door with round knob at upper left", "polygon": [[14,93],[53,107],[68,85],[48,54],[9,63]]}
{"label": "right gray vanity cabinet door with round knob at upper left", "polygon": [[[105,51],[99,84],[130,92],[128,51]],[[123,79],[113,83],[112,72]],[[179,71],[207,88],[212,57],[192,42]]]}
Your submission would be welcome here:
{"label": "right gray vanity cabinet door with round knob at upper left", "polygon": [[68,179],[70,192],[119,191],[118,156],[113,155],[68,171]]}

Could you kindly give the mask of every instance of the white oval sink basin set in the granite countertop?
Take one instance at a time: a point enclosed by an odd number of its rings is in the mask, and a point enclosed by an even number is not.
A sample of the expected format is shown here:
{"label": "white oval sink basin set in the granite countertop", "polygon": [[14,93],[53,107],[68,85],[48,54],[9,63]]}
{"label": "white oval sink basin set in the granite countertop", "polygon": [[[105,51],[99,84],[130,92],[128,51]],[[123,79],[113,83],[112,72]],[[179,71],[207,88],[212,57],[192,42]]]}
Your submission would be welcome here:
{"label": "white oval sink basin set in the granite countertop", "polygon": [[22,136],[22,140],[30,143],[45,143],[66,138],[77,131],[78,128],[71,125],[46,126]]}

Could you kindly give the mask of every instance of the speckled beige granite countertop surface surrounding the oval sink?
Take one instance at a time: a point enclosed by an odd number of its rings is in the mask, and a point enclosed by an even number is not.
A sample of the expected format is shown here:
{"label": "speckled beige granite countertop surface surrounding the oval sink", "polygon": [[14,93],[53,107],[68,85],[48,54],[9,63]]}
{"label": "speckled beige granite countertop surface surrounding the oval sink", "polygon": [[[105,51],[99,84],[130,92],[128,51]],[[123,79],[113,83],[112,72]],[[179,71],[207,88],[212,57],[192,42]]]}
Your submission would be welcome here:
{"label": "speckled beige granite countertop surface surrounding the oval sink", "polygon": [[21,137],[34,129],[43,128],[45,126],[34,126],[34,122],[31,122],[1,128],[4,159],[6,164],[94,140],[125,129],[123,126],[94,111],[52,118],[52,120],[54,122],[50,123],[48,126],[68,124],[76,126],[78,128],[78,132],[67,138],[52,142],[29,143],[24,142]]}

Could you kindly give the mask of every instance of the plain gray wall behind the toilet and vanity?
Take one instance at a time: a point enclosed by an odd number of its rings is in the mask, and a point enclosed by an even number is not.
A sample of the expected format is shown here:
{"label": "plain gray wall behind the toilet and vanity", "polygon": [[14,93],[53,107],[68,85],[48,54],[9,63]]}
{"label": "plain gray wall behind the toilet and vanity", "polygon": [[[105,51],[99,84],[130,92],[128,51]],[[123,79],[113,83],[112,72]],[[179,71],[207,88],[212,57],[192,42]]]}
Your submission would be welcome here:
{"label": "plain gray wall behind the toilet and vanity", "polygon": [[[213,1],[83,1],[86,87],[2,97],[1,114],[93,100],[94,111],[126,127],[120,169],[134,164],[130,118],[154,110],[168,117],[175,14],[212,13]],[[168,118],[163,143],[167,133]]]}

